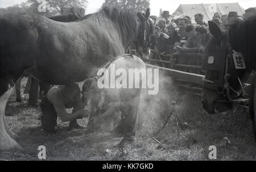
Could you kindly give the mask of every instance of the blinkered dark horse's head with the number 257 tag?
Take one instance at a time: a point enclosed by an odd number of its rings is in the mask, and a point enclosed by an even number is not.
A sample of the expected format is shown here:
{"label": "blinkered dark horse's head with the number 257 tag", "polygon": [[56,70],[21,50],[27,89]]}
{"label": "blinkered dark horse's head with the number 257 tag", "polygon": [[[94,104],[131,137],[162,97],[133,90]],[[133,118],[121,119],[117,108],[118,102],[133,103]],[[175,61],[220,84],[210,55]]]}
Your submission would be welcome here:
{"label": "blinkered dark horse's head with the number 257 tag", "polygon": [[248,72],[242,54],[230,45],[229,31],[222,32],[213,21],[208,23],[213,38],[205,49],[202,103],[209,114],[214,114],[232,108],[232,100],[242,94],[242,83]]}

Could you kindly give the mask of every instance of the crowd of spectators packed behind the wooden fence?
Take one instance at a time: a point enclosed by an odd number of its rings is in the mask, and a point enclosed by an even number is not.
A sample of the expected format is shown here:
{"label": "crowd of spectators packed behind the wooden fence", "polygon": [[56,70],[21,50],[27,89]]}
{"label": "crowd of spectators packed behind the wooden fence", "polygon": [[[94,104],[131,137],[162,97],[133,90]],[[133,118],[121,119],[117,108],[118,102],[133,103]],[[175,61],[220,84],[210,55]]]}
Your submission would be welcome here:
{"label": "crowd of spectators packed behind the wooden fence", "polygon": [[[243,16],[238,16],[236,11],[230,11],[229,14],[223,15],[216,12],[212,21],[225,30],[233,23],[253,15],[256,15],[256,7],[245,10]],[[189,16],[172,20],[170,20],[170,16],[169,11],[163,11],[160,18],[150,16],[155,24],[155,35],[151,39],[151,51],[163,54],[204,53],[205,45],[210,38],[208,23],[205,23],[204,15],[195,14],[195,23]]]}

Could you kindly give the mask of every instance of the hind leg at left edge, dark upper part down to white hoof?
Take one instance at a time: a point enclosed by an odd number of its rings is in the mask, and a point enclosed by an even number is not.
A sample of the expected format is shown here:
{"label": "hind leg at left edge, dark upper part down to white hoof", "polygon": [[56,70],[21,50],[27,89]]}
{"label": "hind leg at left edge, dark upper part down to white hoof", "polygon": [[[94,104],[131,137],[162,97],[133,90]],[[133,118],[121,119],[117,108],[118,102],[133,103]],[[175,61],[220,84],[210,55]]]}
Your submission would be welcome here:
{"label": "hind leg at left edge, dark upper part down to white hoof", "polygon": [[[7,84],[6,79],[0,78],[0,150],[21,148],[20,145],[8,134],[5,126],[5,107],[13,87]],[[6,128],[5,128],[6,127]]]}

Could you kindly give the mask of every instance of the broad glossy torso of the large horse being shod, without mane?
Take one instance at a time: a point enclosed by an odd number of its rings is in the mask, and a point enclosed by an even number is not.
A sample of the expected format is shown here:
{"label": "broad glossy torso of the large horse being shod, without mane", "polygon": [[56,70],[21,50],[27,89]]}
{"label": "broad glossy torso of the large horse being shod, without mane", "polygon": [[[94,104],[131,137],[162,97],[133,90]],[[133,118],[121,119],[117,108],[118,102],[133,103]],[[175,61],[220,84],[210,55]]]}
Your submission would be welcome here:
{"label": "broad glossy torso of the large horse being shod, without mane", "polygon": [[38,77],[48,78],[38,79],[47,83],[82,81],[124,53],[116,31],[108,18],[101,23],[93,18],[63,23],[29,12],[0,14],[0,67],[7,73],[15,71],[16,79],[36,65]]}

